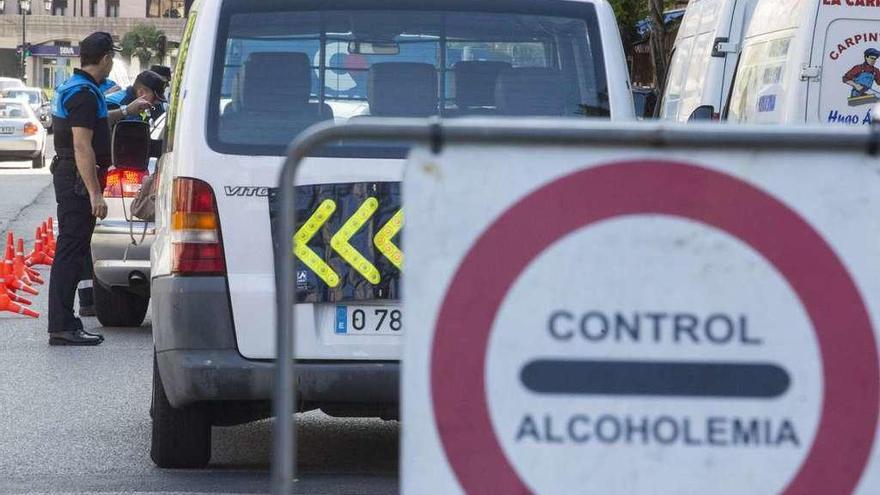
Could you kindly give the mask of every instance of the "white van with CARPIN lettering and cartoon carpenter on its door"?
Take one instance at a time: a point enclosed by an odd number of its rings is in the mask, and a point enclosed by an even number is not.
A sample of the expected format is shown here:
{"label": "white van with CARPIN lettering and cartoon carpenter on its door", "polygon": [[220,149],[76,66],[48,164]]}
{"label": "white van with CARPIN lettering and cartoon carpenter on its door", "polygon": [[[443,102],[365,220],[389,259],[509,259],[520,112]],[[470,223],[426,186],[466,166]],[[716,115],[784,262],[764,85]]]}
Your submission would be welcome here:
{"label": "white van with CARPIN lettering and cartoon carpenter on its door", "polygon": [[880,101],[880,8],[868,0],[759,0],[727,119],[864,125]]}

